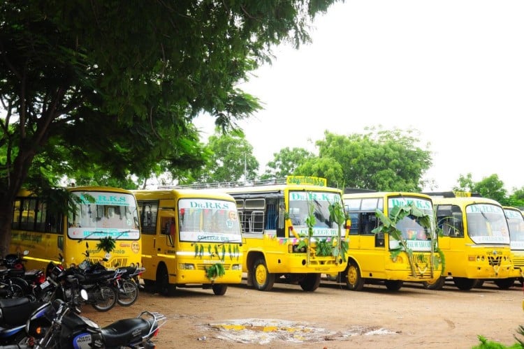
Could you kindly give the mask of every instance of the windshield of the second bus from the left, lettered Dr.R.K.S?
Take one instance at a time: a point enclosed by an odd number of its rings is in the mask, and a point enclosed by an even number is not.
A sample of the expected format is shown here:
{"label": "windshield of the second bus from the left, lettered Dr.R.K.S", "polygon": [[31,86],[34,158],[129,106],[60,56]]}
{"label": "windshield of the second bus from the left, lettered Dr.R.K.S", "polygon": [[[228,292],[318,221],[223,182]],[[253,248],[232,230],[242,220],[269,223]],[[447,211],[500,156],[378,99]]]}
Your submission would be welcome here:
{"label": "windshield of the second bus from the left, lettered Dr.R.K.S", "polygon": [[182,242],[242,242],[235,202],[180,199],[178,224]]}

